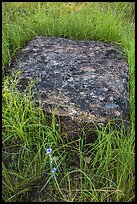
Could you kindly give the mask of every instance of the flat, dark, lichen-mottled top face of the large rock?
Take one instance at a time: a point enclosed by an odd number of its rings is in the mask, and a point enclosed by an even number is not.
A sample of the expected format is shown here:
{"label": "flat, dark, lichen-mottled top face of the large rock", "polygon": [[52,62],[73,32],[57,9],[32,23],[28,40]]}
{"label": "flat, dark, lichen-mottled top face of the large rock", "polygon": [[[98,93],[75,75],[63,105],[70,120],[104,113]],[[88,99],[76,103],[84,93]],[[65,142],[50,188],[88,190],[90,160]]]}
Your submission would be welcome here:
{"label": "flat, dark, lichen-mottled top face of the large rock", "polygon": [[36,81],[34,92],[48,112],[55,106],[73,122],[128,121],[128,64],[116,45],[38,36],[17,54],[16,69],[20,89]]}

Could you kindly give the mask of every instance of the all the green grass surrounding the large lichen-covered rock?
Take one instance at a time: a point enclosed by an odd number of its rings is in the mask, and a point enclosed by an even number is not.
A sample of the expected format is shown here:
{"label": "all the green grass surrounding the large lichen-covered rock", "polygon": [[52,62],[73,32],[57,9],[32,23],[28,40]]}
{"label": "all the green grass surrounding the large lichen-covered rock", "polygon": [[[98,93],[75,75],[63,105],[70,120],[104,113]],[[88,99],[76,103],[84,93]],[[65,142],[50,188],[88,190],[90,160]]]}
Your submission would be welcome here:
{"label": "all the green grass surrounding the large lichen-covered rock", "polygon": [[[130,129],[98,129],[66,142],[54,112],[49,124],[33,102],[32,85],[22,95],[19,73],[5,76],[18,50],[36,35],[114,42],[129,64]],[[135,200],[134,3],[2,3],[2,196],[6,202],[129,202]],[[46,149],[52,148],[51,157]],[[53,162],[52,162],[53,161]],[[52,168],[56,172],[52,173]]]}

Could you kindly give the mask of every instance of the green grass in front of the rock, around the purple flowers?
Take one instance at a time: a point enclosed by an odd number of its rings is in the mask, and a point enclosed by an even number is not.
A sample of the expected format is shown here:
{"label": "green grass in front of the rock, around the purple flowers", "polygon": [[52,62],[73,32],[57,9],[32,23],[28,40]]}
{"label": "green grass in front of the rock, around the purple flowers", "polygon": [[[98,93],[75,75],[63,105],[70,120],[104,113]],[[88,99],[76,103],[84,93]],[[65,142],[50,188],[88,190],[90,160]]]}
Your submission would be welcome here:
{"label": "green grass in front of the rock, around the purple flowers", "polygon": [[[134,137],[125,136],[124,127],[113,130],[110,122],[101,130],[96,128],[94,143],[86,143],[85,132],[66,143],[54,114],[49,126],[42,109],[34,104],[31,86],[22,94],[17,84],[18,75],[4,80],[3,86],[5,201],[134,199]],[[47,149],[52,152],[47,154]]]}

